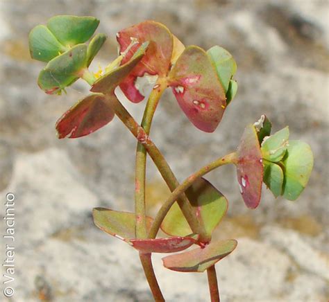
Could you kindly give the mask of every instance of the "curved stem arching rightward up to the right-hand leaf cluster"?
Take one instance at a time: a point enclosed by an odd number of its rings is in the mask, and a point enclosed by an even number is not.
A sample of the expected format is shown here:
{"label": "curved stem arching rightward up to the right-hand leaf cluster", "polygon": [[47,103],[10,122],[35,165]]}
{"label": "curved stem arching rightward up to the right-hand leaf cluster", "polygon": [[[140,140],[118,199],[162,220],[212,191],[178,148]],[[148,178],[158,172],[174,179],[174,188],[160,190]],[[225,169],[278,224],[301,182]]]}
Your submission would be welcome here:
{"label": "curved stem arching rightward up to the right-hand leaf cluster", "polygon": [[178,197],[191,186],[196,179],[199,177],[202,177],[206,173],[220,167],[223,165],[226,165],[228,163],[235,163],[237,161],[237,154],[235,152],[227,154],[225,157],[221,157],[219,159],[216,159],[215,161],[212,161],[212,163],[209,163],[208,165],[201,168],[199,171],[195,172],[193,175],[187,177],[185,181],[182,182],[168,197],[167,201],[162,204],[160,210],[158,211],[158,214],[155,217],[155,220],[153,221],[153,224],[151,226],[151,229],[149,231],[149,238],[155,238],[159,229],[160,225],[162,224],[162,221],[165,219],[165,216],[167,215],[169,209],[171,206],[176,202]]}

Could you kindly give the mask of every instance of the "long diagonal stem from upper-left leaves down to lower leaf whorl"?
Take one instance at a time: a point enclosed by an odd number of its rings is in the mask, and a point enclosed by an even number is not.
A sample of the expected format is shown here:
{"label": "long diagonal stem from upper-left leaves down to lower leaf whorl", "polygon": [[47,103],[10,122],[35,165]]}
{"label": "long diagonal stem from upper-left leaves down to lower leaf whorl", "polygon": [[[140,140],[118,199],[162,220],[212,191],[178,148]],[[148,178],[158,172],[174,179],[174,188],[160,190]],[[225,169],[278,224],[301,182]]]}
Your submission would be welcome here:
{"label": "long diagonal stem from upper-left leaves down to lower leaf whorl", "polygon": [[[175,190],[175,188],[179,186],[179,182],[176,179],[174,173],[172,172],[160,150],[156,147],[153,141],[151,141],[149,136],[145,133],[144,129],[137,124],[133,116],[129,114],[126,108],[119,102],[119,100],[112,94],[108,94],[106,96],[108,105],[112,107],[112,109],[115,111],[115,114],[126,125],[126,127],[128,128],[128,130],[130,130],[133,136],[135,136],[138,141],[140,141],[140,143],[144,145],[144,148],[149,153],[151,159],[155,163],[155,166],[157,166],[163,179],[165,179],[167,185],[169,186],[169,189],[171,191]],[[194,233],[199,234],[199,238],[201,241],[208,242],[209,238],[205,234],[204,228],[201,228],[201,226],[199,225],[199,222],[194,215],[192,205],[189,203],[189,200],[187,199],[184,193],[180,195],[180,198],[178,199],[178,205],[183,211],[183,214],[185,215],[185,218],[189,223],[189,226],[191,227],[192,231]]]}

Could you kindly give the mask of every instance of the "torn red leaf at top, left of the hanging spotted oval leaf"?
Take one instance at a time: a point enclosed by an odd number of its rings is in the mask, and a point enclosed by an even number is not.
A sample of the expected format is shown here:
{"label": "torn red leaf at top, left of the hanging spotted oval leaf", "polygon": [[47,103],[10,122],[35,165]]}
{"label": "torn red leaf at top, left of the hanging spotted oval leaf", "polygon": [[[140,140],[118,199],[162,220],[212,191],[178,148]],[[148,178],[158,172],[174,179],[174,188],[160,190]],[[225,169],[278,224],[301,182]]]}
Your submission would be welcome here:
{"label": "torn red leaf at top, left of the hanging spotted oval leaf", "polygon": [[135,87],[137,77],[142,77],[144,74],[159,75],[160,77],[167,75],[173,51],[173,37],[163,24],[155,21],[144,21],[121,30],[117,34],[121,53],[126,51],[134,38],[137,39],[138,43],[130,48],[122,64],[130,60],[142,43],[149,41],[150,45],[140,64],[137,64],[128,77],[121,82],[120,88],[129,100],[133,103],[139,103],[144,100],[144,96]]}

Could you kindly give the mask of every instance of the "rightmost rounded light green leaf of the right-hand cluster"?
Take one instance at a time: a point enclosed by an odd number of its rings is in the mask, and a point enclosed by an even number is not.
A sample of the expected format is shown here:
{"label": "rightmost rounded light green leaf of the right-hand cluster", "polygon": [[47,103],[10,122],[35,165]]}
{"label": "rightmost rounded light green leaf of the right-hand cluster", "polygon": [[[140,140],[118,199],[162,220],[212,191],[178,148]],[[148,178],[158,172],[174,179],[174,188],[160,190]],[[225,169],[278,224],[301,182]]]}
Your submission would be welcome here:
{"label": "rightmost rounded light green leaf of the right-hand cluster", "polygon": [[303,141],[289,141],[283,164],[285,181],[282,195],[288,200],[296,200],[312,172],[313,154],[310,145]]}

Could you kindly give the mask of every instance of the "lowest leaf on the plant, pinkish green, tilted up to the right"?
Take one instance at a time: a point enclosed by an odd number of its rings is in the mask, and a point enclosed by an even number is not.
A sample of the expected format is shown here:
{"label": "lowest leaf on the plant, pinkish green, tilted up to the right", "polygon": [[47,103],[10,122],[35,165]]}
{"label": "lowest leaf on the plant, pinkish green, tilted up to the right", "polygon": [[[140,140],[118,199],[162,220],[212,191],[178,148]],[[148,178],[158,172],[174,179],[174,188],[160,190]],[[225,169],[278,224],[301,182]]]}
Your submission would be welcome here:
{"label": "lowest leaf on the plant, pinkish green, tilted up to the right", "polygon": [[235,247],[237,241],[234,239],[211,242],[204,249],[198,248],[185,251],[180,254],[162,258],[163,265],[167,269],[177,272],[204,272],[219,260],[228,256]]}

